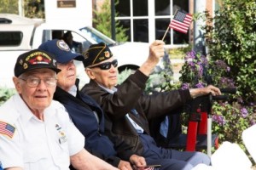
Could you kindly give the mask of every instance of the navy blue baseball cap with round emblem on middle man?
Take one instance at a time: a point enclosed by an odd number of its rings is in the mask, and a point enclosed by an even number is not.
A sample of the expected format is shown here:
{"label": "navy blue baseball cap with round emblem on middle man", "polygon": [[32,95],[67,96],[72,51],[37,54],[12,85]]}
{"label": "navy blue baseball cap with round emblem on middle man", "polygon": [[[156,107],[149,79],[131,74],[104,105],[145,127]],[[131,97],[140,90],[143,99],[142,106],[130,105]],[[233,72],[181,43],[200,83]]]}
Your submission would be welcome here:
{"label": "navy blue baseball cap with round emblem on middle man", "polygon": [[73,53],[71,49],[68,47],[67,43],[59,39],[43,42],[38,47],[38,49],[42,49],[51,54],[54,54],[55,59],[57,60],[57,63],[67,63],[72,59],[76,59],[80,61],[84,60],[83,55]]}

